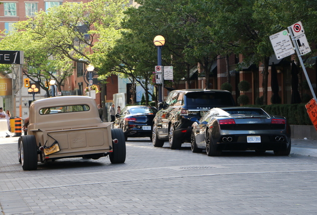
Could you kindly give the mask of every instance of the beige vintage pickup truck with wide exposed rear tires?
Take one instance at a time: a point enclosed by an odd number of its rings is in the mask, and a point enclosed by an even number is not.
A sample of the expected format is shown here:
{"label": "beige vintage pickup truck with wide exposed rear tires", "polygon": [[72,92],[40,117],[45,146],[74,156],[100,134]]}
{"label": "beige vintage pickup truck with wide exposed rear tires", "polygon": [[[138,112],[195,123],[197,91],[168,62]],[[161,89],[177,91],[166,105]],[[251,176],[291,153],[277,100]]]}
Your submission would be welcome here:
{"label": "beige vintage pickup truck with wide exposed rear tires", "polygon": [[99,159],[124,163],[126,142],[122,129],[101,122],[91,97],[63,96],[37,100],[29,108],[27,135],[18,140],[23,170],[36,170],[38,162],[61,158]]}

